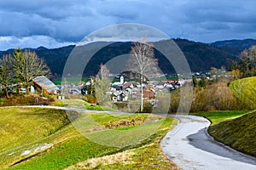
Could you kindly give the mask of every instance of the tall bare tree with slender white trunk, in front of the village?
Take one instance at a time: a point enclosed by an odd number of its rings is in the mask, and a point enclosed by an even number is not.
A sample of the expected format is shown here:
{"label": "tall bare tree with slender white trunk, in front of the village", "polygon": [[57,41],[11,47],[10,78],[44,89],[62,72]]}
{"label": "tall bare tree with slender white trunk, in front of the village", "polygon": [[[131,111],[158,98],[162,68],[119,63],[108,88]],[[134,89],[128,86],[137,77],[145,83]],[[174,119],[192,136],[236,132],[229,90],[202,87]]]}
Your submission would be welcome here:
{"label": "tall bare tree with slender white trunk, in front of the village", "polygon": [[128,69],[140,75],[141,84],[141,112],[143,112],[143,79],[151,78],[158,72],[158,61],[154,58],[154,45],[141,38],[139,42],[133,42],[131,57],[128,59]]}

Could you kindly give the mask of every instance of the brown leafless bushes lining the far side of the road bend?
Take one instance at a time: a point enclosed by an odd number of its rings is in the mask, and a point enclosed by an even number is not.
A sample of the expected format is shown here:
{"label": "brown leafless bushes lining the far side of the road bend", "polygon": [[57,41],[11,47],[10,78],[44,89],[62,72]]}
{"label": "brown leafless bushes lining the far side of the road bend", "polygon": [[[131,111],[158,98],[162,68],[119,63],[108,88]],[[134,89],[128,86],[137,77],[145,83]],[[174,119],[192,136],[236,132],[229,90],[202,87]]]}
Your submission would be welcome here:
{"label": "brown leafless bushes lining the far side of the road bend", "polygon": [[[187,105],[186,103],[180,104],[180,90],[182,88],[171,92],[169,113],[177,112],[178,107],[181,107],[182,110]],[[244,111],[248,109],[240,99],[236,98],[225,82],[214,83],[207,88],[196,87],[193,95],[190,112]]]}

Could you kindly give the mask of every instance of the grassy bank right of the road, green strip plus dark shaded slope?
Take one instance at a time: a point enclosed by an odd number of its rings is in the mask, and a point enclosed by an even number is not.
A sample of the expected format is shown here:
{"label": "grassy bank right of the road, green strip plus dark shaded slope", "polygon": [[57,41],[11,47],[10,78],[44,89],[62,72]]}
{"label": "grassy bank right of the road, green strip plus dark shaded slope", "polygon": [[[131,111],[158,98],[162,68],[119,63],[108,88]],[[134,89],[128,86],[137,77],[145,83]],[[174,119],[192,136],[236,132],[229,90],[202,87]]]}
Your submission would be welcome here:
{"label": "grassy bank right of the road, green strip plus dark shaded slope", "polygon": [[205,116],[212,122],[208,132],[214,139],[256,156],[256,111],[215,111],[191,115]]}

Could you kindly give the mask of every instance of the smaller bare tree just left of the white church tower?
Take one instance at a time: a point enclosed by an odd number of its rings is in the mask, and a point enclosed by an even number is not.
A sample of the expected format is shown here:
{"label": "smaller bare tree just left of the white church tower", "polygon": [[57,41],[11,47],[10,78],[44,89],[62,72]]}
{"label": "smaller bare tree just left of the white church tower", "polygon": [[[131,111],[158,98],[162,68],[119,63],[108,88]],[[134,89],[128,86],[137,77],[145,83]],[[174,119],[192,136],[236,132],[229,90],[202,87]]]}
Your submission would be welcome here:
{"label": "smaller bare tree just left of the white church tower", "polygon": [[101,105],[108,105],[108,88],[110,85],[110,79],[108,77],[109,71],[106,65],[100,66],[100,71],[96,75],[96,99]]}

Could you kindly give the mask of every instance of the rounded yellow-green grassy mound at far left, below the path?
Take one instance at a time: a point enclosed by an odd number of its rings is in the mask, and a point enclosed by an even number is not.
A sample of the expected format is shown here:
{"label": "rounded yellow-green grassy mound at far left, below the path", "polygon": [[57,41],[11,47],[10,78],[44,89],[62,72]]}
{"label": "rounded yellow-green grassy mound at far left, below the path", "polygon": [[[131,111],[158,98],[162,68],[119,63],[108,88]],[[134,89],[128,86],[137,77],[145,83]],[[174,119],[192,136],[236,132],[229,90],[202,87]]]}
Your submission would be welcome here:
{"label": "rounded yellow-green grassy mound at far left, below the path", "polygon": [[61,110],[0,108],[0,153],[44,139],[67,123],[67,115]]}

